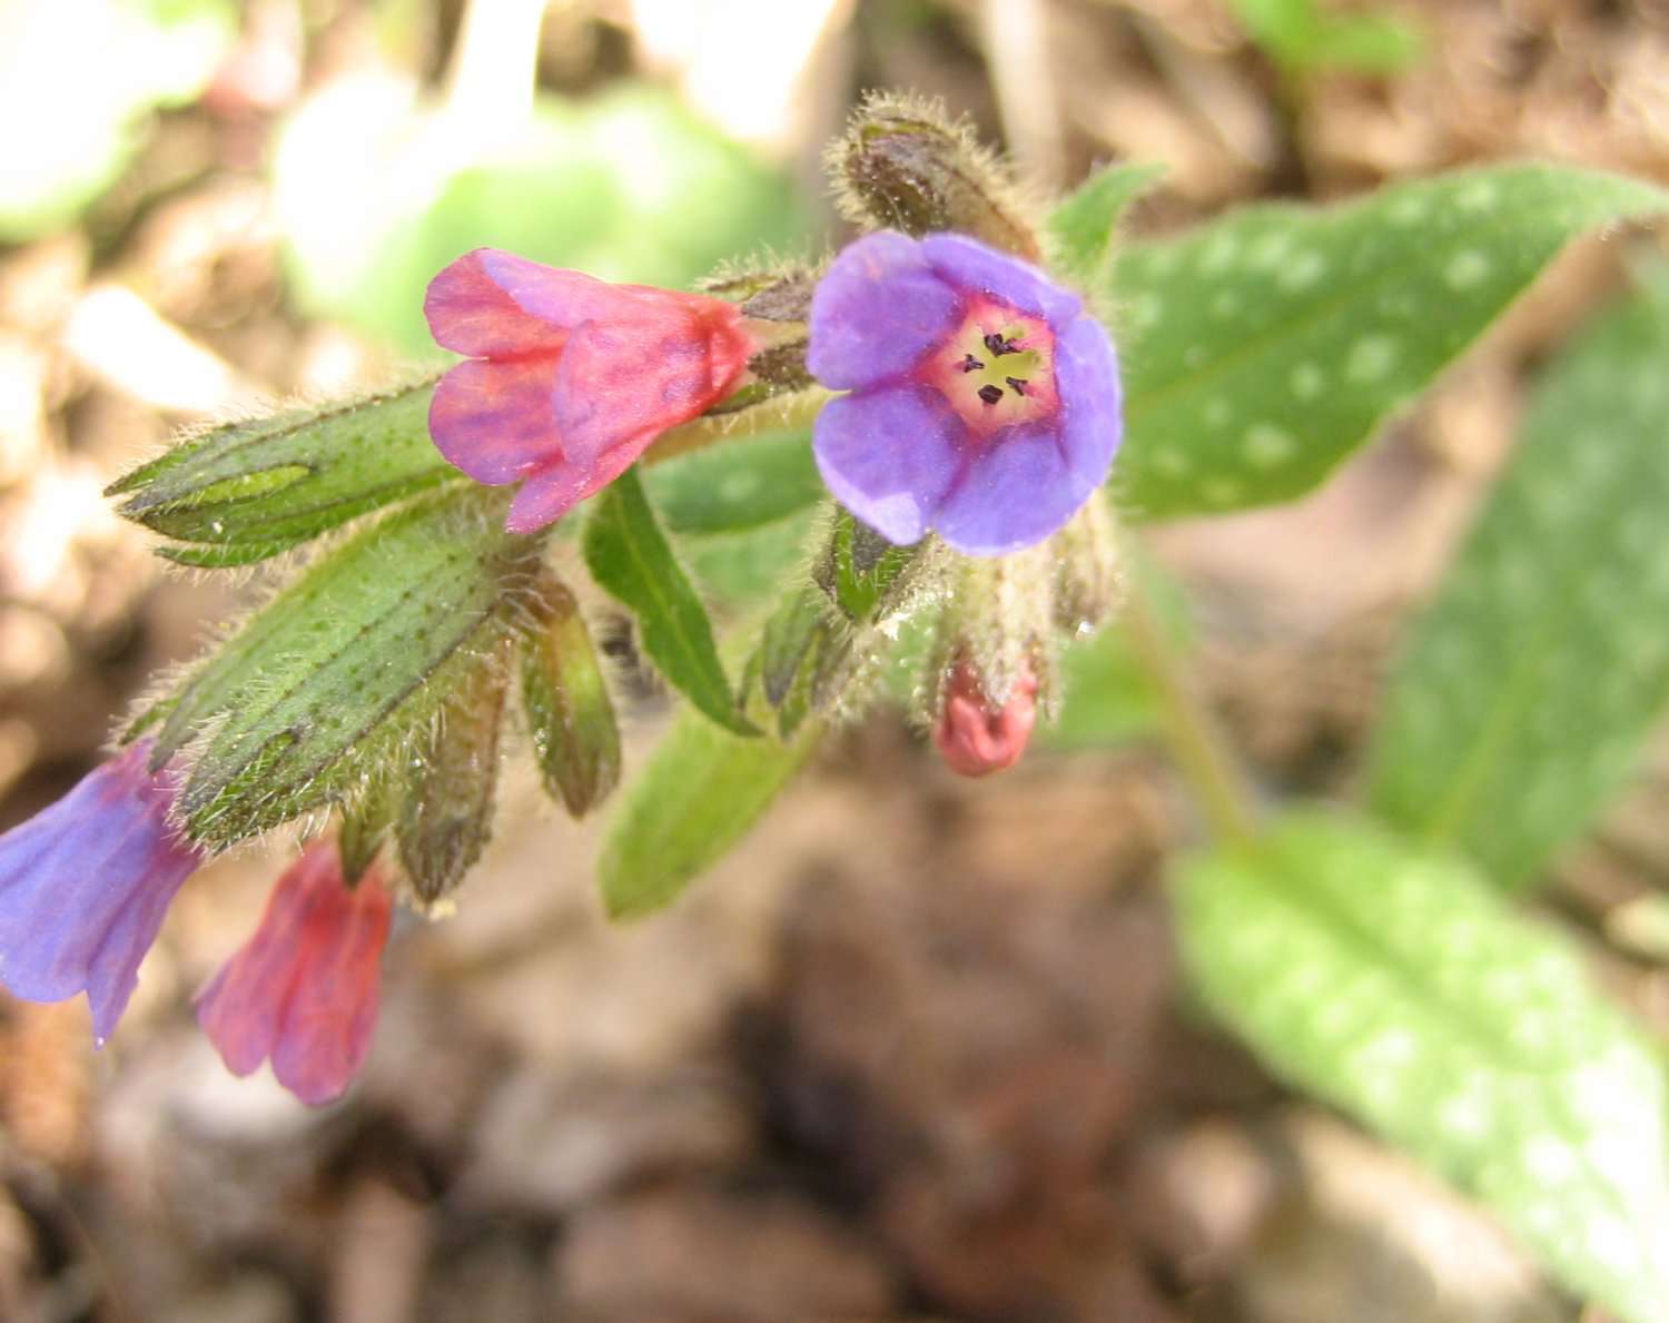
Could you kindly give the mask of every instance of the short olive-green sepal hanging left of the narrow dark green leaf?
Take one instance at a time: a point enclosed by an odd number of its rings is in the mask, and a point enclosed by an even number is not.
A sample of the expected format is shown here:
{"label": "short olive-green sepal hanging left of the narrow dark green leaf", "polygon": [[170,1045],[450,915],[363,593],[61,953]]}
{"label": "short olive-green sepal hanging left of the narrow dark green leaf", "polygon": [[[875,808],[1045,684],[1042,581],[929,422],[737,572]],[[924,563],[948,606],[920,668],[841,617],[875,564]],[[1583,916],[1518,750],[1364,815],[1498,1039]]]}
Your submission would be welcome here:
{"label": "short olive-green sepal hanging left of the narrow dark green leaf", "polygon": [[522,709],[544,789],[574,817],[601,804],[621,776],[614,702],[586,617],[547,579],[521,644]]}

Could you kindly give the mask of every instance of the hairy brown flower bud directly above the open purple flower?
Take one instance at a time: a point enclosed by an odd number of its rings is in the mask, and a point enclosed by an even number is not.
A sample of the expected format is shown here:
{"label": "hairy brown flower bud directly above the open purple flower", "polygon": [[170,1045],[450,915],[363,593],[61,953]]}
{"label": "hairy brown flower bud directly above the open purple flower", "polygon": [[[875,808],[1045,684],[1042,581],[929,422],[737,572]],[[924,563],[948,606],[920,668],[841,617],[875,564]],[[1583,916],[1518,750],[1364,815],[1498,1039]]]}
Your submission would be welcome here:
{"label": "hairy brown flower bud directly above the open purple flower", "polygon": [[1025,205],[993,155],[943,107],[873,95],[828,155],[841,212],[865,229],[908,235],[960,230],[1041,260]]}

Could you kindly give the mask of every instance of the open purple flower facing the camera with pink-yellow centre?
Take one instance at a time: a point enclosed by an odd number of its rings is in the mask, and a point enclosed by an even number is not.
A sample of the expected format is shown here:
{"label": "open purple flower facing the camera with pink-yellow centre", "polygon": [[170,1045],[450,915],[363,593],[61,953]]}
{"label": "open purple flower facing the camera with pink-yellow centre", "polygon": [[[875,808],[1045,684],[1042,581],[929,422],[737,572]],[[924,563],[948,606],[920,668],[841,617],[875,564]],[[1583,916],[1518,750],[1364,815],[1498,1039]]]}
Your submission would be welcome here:
{"label": "open purple flower facing the camera with pink-yellow centre", "polygon": [[806,365],[831,400],[823,480],[891,542],[928,529],[971,556],[1041,542],[1107,480],[1118,360],[1082,300],[956,234],[883,230],[811,300]]}

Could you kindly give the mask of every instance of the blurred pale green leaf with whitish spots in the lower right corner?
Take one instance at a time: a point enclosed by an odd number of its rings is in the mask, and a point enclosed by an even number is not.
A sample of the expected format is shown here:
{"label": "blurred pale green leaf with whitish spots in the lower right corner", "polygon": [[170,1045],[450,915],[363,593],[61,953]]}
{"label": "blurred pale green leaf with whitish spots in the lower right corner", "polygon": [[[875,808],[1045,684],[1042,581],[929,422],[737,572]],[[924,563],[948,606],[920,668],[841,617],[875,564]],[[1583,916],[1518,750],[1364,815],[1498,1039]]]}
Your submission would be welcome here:
{"label": "blurred pale green leaf with whitish spots in the lower right corner", "polygon": [[1427,1161],[1572,1290],[1669,1320],[1662,1063],[1576,953],[1460,859],[1282,822],[1183,868],[1207,1004],[1292,1083]]}

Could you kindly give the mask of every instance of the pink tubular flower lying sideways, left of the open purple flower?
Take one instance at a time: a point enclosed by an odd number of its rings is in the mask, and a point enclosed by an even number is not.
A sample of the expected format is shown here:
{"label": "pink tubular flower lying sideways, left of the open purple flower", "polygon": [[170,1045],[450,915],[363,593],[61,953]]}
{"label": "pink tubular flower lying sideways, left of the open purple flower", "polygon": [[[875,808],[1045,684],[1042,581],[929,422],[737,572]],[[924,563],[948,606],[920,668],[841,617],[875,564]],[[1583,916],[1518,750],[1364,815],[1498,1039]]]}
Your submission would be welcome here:
{"label": "pink tubular flower lying sideways, left of the open purple flower", "polygon": [[441,345],[471,355],[436,387],[429,434],[477,482],[522,484],[511,532],[606,487],[668,427],[729,395],[754,352],[734,304],[497,249],[434,277],[424,314]]}

